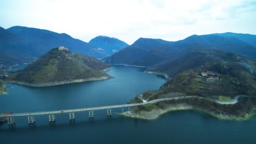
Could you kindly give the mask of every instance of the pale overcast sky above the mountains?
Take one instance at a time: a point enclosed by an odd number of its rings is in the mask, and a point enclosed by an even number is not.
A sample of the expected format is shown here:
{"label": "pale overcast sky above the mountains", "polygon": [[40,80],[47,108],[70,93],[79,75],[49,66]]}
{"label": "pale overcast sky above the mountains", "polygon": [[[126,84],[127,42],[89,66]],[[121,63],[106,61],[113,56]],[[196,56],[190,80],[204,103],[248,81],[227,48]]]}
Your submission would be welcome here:
{"label": "pale overcast sky above the mountains", "polygon": [[0,27],[35,27],[89,42],[98,35],[140,37],[256,35],[256,0],[0,0]]}

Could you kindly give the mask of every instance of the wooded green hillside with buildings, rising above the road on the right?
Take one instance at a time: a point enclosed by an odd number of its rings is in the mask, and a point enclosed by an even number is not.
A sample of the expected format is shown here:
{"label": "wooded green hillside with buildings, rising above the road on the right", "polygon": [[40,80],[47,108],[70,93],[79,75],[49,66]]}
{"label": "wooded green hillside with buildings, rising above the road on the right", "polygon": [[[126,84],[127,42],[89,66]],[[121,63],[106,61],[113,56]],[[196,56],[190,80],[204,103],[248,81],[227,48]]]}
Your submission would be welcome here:
{"label": "wooded green hillside with buildings, rising above the road on the right", "polygon": [[[173,92],[202,97],[256,96],[256,62],[235,53],[220,50],[191,51],[154,69],[157,72],[165,72],[172,78],[159,90],[164,91],[152,99]],[[215,72],[216,75],[201,75],[207,71]]]}

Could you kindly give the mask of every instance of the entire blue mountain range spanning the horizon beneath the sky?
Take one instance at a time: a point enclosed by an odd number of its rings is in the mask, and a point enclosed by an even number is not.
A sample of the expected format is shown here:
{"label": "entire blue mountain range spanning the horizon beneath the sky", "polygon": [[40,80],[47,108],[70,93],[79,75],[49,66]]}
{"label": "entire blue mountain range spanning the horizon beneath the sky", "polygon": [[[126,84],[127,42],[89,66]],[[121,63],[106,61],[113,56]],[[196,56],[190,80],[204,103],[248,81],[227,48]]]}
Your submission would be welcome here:
{"label": "entire blue mountain range spanning the horizon beneath the sky", "polygon": [[249,34],[226,32],[192,35],[175,42],[139,38],[132,45],[128,45],[114,37],[98,36],[86,43],[65,33],[15,26],[9,29],[0,27],[0,64],[8,67],[31,62],[59,45],[75,53],[96,58],[105,57],[103,61],[108,64],[137,65],[162,71],[168,67],[170,69],[179,60],[187,59],[186,56],[191,56],[191,52],[195,51],[228,51],[256,60],[256,35]]}

